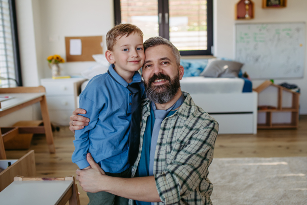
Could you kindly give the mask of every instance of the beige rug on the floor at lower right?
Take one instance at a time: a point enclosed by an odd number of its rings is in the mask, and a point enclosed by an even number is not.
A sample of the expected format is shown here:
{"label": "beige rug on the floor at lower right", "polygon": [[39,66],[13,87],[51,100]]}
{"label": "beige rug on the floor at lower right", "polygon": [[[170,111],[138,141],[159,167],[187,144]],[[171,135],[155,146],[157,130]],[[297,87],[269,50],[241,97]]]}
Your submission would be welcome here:
{"label": "beige rug on the floor at lower right", "polygon": [[307,204],[307,157],[214,158],[211,200],[223,204]]}

